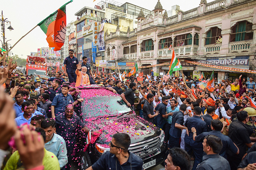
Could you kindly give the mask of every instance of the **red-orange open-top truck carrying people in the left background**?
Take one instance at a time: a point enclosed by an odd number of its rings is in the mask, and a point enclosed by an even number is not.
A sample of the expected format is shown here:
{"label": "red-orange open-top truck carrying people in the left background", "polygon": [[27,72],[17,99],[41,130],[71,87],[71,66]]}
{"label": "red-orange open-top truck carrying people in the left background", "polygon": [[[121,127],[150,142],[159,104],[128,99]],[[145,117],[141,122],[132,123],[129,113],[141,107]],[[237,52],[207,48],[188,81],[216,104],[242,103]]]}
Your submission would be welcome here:
{"label": "red-orange open-top truck carrying people in the left background", "polygon": [[[42,64],[45,63],[45,64]],[[47,76],[46,58],[28,55],[26,63],[26,75]]]}

